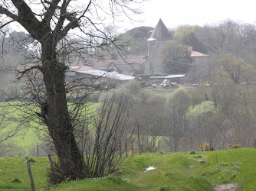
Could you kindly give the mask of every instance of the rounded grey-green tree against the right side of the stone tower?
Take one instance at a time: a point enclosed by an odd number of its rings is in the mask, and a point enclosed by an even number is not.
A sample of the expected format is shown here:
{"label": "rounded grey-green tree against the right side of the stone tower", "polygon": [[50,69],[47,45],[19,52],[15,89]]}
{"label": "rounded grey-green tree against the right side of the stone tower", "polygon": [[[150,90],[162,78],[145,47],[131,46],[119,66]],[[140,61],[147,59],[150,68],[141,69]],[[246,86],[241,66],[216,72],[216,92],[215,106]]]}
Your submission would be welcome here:
{"label": "rounded grey-green tree against the right side of the stone tower", "polygon": [[160,52],[162,53],[162,64],[166,66],[167,73],[186,73],[192,63],[188,47],[175,40],[169,40],[162,44]]}

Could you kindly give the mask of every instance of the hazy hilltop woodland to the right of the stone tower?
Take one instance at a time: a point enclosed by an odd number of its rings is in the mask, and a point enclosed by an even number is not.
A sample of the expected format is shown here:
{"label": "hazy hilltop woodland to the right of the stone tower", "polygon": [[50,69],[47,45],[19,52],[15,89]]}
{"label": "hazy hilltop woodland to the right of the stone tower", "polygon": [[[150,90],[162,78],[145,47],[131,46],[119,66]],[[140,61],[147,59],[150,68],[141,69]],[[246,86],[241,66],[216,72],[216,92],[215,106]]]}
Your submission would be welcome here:
{"label": "hazy hilltop woodland to the right of the stone tower", "polygon": [[[203,27],[185,25],[176,29],[175,40],[193,50],[207,53],[210,57],[198,66],[192,66],[189,73],[202,78],[224,72],[235,83],[254,81],[256,28],[254,24],[225,20],[218,24]],[[225,75],[224,75],[225,76]]]}

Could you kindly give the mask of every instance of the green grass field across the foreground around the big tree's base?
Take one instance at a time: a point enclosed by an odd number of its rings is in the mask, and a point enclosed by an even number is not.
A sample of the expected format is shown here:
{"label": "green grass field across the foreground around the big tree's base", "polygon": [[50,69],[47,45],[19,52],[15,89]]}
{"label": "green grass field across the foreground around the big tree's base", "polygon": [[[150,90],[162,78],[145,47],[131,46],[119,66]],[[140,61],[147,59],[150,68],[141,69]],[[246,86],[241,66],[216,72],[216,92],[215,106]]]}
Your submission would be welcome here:
{"label": "green grass field across the foreground around the big tree's base", "polygon": [[[256,149],[241,148],[189,154],[143,153],[128,157],[129,173],[123,177],[68,181],[47,186],[46,157],[34,157],[31,171],[36,189],[54,190],[213,190],[213,186],[238,183],[241,190],[256,189]],[[0,158],[0,189],[28,190],[25,158]],[[146,171],[146,167],[156,167]]]}

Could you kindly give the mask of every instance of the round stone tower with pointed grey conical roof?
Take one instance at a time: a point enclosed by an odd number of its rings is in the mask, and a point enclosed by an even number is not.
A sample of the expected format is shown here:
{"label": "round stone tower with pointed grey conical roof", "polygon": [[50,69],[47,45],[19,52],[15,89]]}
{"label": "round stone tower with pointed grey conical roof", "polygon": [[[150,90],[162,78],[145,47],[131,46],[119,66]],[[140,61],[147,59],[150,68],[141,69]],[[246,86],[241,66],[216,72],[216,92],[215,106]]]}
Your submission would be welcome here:
{"label": "round stone tower with pointed grey conical roof", "polygon": [[146,62],[146,74],[159,74],[165,73],[164,66],[161,63],[161,53],[159,49],[161,44],[171,39],[171,34],[166,28],[166,25],[163,24],[162,19],[160,18],[156,28],[150,34],[148,42],[148,60]]}

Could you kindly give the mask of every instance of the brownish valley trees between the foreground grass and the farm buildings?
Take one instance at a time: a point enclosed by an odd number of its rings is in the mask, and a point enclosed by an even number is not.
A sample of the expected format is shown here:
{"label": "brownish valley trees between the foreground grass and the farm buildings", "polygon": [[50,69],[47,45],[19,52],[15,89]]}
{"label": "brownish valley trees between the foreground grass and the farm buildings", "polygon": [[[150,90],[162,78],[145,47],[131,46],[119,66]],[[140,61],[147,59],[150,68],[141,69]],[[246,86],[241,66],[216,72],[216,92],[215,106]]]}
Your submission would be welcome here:
{"label": "brownish valley trees between the foreground grass and the farm buildings", "polygon": [[206,142],[215,149],[254,147],[255,86],[218,78],[207,86],[156,93],[134,81],[119,92],[130,98],[143,151],[156,151],[158,143],[162,151],[198,149]]}

